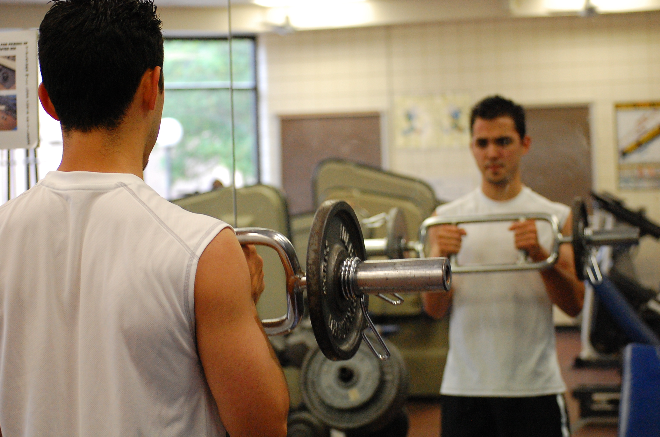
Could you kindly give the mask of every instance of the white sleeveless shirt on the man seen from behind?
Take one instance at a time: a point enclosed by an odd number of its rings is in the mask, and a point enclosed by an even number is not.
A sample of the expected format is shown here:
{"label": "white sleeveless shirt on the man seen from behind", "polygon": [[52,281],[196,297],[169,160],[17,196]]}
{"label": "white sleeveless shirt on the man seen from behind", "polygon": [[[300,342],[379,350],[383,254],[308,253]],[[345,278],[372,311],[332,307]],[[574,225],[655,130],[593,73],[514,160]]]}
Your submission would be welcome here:
{"label": "white sleeveless shirt on the man seen from behind", "polygon": [[227,226],[119,173],[52,171],[0,206],[3,436],[224,437],[193,291]]}

